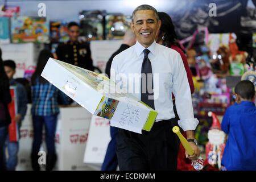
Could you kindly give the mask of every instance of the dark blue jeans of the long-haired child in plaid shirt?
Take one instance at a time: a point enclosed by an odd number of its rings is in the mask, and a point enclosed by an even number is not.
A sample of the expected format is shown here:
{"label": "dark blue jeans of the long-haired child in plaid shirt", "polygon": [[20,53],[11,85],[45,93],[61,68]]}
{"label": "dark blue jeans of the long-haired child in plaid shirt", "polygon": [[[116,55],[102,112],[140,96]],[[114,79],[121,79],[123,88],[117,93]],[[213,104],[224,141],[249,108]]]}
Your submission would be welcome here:
{"label": "dark blue jeans of the long-haired child in plaid shirt", "polygon": [[39,116],[33,115],[33,129],[34,129],[34,140],[32,144],[31,152],[31,163],[32,168],[35,171],[40,169],[38,164],[38,152],[42,144],[42,133],[43,125],[46,130],[46,147],[47,147],[47,158],[46,158],[46,170],[52,170],[56,163],[56,152],[55,152],[55,131],[57,125],[57,115],[50,116]]}

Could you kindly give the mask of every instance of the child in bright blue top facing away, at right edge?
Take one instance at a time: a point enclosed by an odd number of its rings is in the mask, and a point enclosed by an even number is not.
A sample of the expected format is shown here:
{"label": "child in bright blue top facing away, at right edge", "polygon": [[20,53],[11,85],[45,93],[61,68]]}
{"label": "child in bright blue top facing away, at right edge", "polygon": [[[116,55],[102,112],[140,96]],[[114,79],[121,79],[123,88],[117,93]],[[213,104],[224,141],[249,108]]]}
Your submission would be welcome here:
{"label": "child in bright blue top facing away, at right edge", "polygon": [[236,104],[228,107],[221,129],[228,134],[222,156],[222,169],[256,170],[256,107],[254,84],[249,80],[235,87]]}

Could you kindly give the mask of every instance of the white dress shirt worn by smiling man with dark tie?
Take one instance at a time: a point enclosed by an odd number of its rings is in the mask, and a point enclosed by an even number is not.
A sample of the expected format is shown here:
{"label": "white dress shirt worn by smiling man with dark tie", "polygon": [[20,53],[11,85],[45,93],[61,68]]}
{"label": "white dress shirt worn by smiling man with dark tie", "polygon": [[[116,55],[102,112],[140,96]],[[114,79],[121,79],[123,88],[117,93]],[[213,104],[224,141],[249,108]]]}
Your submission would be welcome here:
{"label": "white dress shirt worn by smiling man with dark tie", "polygon": [[[129,90],[129,93],[132,90],[131,94],[138,100],[141,100],[141,79],[122,80],[117,74],[123,73],[127,77],[131,75],[130,73],[141,74],[144,49],[145,47],[137,41],[134,46],[115,56],[111,66],[111,79],[115,82],[121,81],[123,88]],[[172,104],[172,93],[174,93],[177,114],[180,118],[179,126],[184,131],[195,130],[199,121],[193,115],[191,91],[180,54],[174,49],[161,46],[156,42],[147,49],[150,50],[148,58],[152,65],[154,105],[158,112],[156,122],[175,118]],[[155,75],[158,75],[159,79]],[[133,85],[132,89],[129,88],[130,85],[126,84],[129,82]],[[136,89],[137,91],[135,91]]]}

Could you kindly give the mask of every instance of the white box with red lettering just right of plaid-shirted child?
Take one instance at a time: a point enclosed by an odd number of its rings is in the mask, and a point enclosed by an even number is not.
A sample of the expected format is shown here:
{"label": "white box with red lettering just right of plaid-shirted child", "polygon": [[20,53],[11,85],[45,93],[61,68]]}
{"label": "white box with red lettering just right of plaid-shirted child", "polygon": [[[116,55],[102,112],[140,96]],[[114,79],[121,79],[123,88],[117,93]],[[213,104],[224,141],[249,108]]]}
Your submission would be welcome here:
{"label": "white box with red lettering just right of plaid-shirted child", "polygon": [[83,159],[91,118],[92,114],[80,106],[60,107],[55,134],[56,170],[88,170]]}

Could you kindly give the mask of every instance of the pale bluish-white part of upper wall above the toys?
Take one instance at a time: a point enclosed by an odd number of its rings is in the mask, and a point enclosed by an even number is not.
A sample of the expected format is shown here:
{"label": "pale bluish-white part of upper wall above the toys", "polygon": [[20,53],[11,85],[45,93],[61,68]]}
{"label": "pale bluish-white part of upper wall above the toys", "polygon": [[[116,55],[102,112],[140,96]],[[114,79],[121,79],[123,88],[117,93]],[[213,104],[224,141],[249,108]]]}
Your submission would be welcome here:
{"label": "pale bluish-white part of upper wall above the toys", "polygon": [[[3,1],[1,0],[2,4]],[[51,20],[79,21],[81,10],[106,10],[107,13],[131,15],[135,7],[148,4],[158,11],[170,12],[178,3],[177,0],[80,0],[80,1],[31,1],[7,0],[7,5],[20,6],[20,15],[38,16],[38,4],[46,4],[46,16]],[[168,6],[166,6],[168,5]]]}

